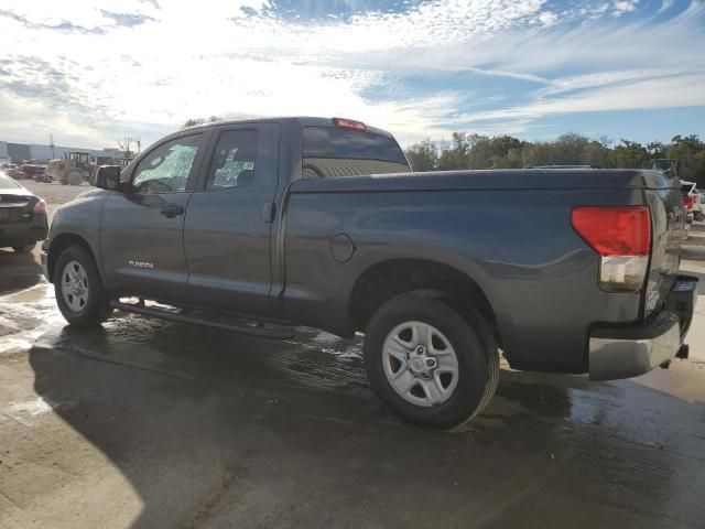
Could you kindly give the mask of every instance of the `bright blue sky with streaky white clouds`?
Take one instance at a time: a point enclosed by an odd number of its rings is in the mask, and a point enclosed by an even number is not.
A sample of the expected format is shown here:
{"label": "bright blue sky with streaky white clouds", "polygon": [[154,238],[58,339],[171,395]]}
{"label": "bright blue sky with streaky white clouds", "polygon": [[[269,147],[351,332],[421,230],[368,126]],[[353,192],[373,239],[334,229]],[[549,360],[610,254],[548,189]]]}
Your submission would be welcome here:
{"label": "bright blue sky with streaky white clouds", "polygon": [[702,0],[0,0],[0,139],[150,143],[193,117],[705,137]]}

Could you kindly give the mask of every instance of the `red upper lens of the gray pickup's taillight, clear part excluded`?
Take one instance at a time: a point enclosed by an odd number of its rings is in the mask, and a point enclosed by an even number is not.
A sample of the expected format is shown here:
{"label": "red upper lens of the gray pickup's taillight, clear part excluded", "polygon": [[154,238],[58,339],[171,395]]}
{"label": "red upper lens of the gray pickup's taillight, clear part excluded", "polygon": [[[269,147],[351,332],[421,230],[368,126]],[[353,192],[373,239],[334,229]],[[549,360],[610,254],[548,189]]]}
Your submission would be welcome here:
{"label": "red upper lens of the gray pickup's taillight, clear part excluded", "polygon": [[647,206],[579,206],[571,224],[600,256],[648,256],[651,218]]}

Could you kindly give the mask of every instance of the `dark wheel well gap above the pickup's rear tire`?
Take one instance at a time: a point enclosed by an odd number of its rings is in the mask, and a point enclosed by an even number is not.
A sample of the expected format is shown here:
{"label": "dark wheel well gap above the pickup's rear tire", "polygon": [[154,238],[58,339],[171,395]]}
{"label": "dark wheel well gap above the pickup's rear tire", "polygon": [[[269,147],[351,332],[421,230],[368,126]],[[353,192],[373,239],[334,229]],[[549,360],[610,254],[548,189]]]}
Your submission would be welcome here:
{"label": "dark wheel well gap above the pickup's rear tire", "polygon": [[446,294],[460,312],[468,306],[475,309],[497,334],[497,319],[482,289],[453,267],[422,259],[384,261],[370,267],[358,278],[348,305],[355,330],[365,331],[377,309],[391,298],[412,290],[434,290]]}

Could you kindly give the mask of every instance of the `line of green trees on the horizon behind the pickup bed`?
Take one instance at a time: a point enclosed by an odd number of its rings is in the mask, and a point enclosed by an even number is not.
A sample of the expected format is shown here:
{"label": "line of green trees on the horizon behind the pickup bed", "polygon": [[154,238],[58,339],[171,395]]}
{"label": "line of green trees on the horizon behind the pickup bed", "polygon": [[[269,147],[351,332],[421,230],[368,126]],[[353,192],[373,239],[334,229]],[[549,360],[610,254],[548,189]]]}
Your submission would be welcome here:
{"label": "line of green trees on the horizon behind the pickup bed", "polygon": [[520,169],[536,165],[593,165],[605,169],[648,169],[654,159],[680,161],[679,176],[705,187],[705,142],[697,134],[675,136],[669,143],[641,144],[607,137],[597,140],[568,132],[553,141],[530,142],[512,136],[453,132],[451,140],[430,139],[404,150],[414,171]]}

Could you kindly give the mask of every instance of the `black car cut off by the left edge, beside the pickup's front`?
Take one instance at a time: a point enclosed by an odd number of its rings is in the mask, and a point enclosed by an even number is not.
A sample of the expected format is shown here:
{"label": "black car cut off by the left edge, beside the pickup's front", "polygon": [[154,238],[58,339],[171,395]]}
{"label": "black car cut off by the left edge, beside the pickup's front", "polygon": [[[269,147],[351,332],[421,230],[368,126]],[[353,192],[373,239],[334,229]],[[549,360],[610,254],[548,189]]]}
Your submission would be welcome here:
{"label": "black car cut off by the left edge, beside the pickup's front", "polygon": [[46,203],[0,173],[0,248],[32,251],[47,231]]}

